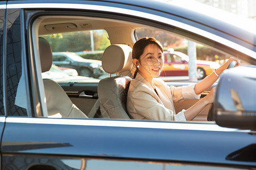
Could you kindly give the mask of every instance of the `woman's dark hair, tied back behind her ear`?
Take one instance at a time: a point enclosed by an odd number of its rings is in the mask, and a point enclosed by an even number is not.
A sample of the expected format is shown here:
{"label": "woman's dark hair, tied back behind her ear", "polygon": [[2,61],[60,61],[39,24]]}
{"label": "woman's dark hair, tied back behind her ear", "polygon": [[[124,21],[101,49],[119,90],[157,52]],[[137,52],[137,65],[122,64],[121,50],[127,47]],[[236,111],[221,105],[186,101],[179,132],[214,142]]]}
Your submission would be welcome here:
{"label": "woman's dark hair, tied back behind her ear", "polygon": [[[159,46],[160,50],[163,53],[163,46],[158,40],[156,40],[153,37],[143,37],[142,39],[139,39],[137,42],[135,42],[135,44],[133,45],[133,53],[132,53],[133,59],[136,58],[140,62],[140,57],[143,54],[145,47],[150,44],[155,44]],[[136,67],[133,78],[136,77],[137,73],[138,73],[138,69]]]}

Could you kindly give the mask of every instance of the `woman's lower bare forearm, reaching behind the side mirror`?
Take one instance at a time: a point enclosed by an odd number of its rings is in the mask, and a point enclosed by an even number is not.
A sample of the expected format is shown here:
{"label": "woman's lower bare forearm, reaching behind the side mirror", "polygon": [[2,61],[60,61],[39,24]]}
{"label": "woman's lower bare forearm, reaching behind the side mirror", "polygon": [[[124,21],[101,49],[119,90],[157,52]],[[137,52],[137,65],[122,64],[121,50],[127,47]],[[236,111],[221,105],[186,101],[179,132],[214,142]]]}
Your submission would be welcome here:
{"label": "woman's lower bare forearm, reaching behind the side mirror", "polygon": [[213,103],[215,87],[203,99],[197,101],[192,107],[184,111],[184,116],[187,121],[193,120],[208,104]]}

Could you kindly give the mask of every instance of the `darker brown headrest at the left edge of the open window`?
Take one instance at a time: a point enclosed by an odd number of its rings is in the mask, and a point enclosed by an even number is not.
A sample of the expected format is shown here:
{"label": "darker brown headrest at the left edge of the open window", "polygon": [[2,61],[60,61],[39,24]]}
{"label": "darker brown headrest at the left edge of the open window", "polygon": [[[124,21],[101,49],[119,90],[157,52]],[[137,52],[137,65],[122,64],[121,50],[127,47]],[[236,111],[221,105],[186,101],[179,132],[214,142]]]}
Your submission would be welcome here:
{"label": "darker brown headrest at the left edge of the open window", "polygon": [[42,73],[49,71],[52,66],[52,48],[43,37],[39,37],[39,54]]}

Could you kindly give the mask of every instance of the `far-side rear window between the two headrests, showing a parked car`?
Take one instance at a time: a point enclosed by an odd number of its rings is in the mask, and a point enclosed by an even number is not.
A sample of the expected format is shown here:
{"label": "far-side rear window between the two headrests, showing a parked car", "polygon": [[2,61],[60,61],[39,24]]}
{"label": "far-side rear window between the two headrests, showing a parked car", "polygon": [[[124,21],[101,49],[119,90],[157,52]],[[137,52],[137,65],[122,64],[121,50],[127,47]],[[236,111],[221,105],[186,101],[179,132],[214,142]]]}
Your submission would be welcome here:
{"label": "far-side rear window between the two headrests, showing a parked car", "polygon": [[56,82],[99,82],[108,76],[101,66],[102,54],[110,45],[104,29],[41,37],[51,45],[54,67],[43,73],[43,78]]}

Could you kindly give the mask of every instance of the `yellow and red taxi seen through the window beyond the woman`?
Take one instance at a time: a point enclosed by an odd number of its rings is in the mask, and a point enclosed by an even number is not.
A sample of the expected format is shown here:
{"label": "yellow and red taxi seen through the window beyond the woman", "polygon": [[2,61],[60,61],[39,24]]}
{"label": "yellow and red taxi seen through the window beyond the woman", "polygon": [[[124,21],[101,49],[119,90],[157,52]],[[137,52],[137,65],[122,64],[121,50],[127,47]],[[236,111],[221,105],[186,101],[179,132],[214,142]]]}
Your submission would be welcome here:
{"label": "yellow and red taxi seen through the window beyond the woman", "polygon": [[[189,57],[173,49],[164,52],[164,66],[161,76],[188,76]],[[213,61],[196,60],[197,79],[210,75],[220,64]]]}

